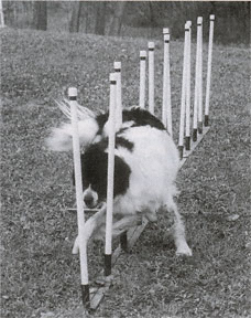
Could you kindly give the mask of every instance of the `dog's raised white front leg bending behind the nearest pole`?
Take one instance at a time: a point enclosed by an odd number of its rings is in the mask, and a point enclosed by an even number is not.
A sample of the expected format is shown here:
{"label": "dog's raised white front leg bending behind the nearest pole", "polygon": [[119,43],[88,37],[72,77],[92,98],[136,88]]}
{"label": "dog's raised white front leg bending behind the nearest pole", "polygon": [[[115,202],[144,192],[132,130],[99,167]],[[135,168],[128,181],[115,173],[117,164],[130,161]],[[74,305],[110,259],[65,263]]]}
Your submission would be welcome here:
{"label": "dog's raised white front leg bending behind the nearest pole", "polygon": [[[105,222],[106,210],[107,210],[107,205],[103,204],[102,208],[97,213],[95,213],[92,216],[90,216],[86,221],[84,230],[83,230],[86,243],[90,239],[95,229]],[[79,234],[77,235],[74,242],[73,254],[77,254],[78,252],[79,252]]]}

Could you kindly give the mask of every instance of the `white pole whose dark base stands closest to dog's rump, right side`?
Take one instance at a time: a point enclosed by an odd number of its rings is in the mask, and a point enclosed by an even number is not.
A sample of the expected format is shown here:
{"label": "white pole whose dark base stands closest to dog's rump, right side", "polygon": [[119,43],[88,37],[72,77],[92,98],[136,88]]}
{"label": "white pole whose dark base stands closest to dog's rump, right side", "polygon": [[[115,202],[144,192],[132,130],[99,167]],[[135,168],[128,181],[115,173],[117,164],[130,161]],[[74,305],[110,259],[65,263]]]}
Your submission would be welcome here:
{"label": "white pole whose dark base stands closest to dog's rump, right side", "polygon": [[178,138],[178,150],[179,158],[183,158],[184,148],[184,120],[185,120],[185,97],[186,97],[186,64],[187,64],[187,42],[188,42],[188,31],[189,28],[185,24],[185,43],[184,43],[184,60],[183,60],[183,78],[182,78],[182,105],[181,105],[181,118],[179,118],[179,138]]}

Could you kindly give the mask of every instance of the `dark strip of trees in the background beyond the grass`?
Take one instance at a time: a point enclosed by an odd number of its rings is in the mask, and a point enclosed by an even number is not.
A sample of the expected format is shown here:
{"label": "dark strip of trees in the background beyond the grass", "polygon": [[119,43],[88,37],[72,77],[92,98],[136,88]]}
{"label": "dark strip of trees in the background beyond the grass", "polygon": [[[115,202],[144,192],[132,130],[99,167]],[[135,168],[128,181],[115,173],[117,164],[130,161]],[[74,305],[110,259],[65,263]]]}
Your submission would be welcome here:
{"label": "dark strip of trees in the background beyond the grass", "polygon": [[[100,35],[184,36],[186,20],[216,14],[216,42],[250,42],[250,2],[239,1],[3,1],[6,24]],[[206,20],[206,19],[205,19]],[[207,20],[206,20],[207,21]],[[205,34],[208,25],[205,23]]]}

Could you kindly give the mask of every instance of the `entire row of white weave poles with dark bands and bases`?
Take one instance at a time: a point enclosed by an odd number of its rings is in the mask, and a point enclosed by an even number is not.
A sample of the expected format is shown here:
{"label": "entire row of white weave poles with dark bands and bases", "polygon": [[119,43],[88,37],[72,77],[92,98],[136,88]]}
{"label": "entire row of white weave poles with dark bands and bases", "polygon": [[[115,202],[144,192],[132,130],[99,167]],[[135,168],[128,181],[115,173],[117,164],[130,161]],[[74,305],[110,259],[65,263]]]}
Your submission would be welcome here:
{"label": "entire row of white weave poles with dark bands and bases", "polygon": [[[209,44],[207,63],[207,83],[205,98],[205,115],[203,115],[203,18],[197,18],[197,46],[196,46],[196,70],[195,70],[195,95],[193,107],[193,138],[190,138],[190,46],[192,46],[192,22],[185,24],[185,43],[182,80],[182,102],[179,117],[178,149],[181,159],[185,150],[190,149],[192,141],[197,140],[197,134],[203,134],[204,126],[209,125],[209,95],[211,77],[211,56],[214,39],[215,15],[210,15]],[[171,105],[171,76],[170,76],[170,31],[163,29],[164,33],[164,62],[163,62],[163,105],[162,121],[170,135],[173,135],[172,127],[172,105]],[[146,84],[146,51],[140,51],[140,97],[139,106],[145,108],[145,84]],[[73,149],[75,166],[75,184],[77,201],[77,221],[79,236],[79,257],[81,295],[85,309],[90,308],[87,242],[85,242],[85,206],[83,200],[83,181],[80,165],[80,146],[78,136],[77,119],[77,89],[68,89],[73,126]],[[112,212],[113,212],[113,169],[114,169],[114,135],[122,124],[122,94],[121,94],[121,63],[114,62],[114,73],[110,74],[110,99],[109,99],[109,145],[108,145],[108,183],[107,183],[107,216],[106,216],[106,244],[105,244],[105,276],[111,276],[111,254],[112,254]],[[154,42],[149,42],[149,110],[154,114]],[[203,120],[203,116],[204,120]],[[204,123],[203,123],[204,121]],[[190,140],[192,139],[192,140]]]}

